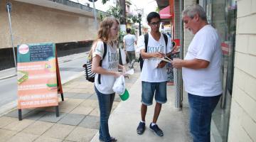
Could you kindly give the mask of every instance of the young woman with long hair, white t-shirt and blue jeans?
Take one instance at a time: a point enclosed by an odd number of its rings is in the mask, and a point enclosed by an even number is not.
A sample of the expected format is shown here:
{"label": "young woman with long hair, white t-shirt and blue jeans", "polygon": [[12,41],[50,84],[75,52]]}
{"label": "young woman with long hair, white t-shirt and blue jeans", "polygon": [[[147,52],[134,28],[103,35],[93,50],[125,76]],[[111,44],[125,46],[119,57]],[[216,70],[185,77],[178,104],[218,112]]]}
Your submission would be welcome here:
{"label": "young woman with long hair, white t-shirt and blue jeans", "polygon": [[[115,18],[105,18],[100,23],[97,33],[97,40],[92,46],[92,72],[95,72],[95,92],[100,106],[100,141],[114,142],[116,138],[110,136],[108,119],[114,101],[112,89],[114,81],[122,75],[118,69],[125,70],[119,65],[116,40],[119,31],[119,21]],[[107,51],[104,51],[104,44],[107,44]],[[106,53],[105,58],[102,57]],[[101,61],[102,60],[102,61]],[[102,65],[100,65],[102,62]],[[99,80],[100,77],[100,80]]]}

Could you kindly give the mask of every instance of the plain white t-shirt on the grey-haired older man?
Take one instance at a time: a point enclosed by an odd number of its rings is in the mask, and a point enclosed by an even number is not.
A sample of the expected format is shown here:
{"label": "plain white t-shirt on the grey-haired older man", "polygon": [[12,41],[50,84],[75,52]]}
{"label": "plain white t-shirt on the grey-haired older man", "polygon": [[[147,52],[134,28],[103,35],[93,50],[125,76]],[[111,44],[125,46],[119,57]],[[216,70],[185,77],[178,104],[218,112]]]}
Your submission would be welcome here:
{"label": "plain white t-shirt on the grey-haired older man", "polygon": [[206,69],[182,68],[186,92],[203,97],[217,96],[223,92],[221,82],[220,37],[210,25],[196,33],[188,46],[185,60],[201,59],[210,62]]}

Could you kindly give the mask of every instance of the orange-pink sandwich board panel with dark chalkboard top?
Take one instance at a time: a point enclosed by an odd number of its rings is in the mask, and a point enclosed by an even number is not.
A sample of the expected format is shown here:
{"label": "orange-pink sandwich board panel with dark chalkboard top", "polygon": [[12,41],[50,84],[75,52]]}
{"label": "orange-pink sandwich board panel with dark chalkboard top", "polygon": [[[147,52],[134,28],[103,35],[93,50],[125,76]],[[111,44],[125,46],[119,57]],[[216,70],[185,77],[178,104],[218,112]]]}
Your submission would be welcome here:
{"label": "orange-pink sandwich board panel with dark chalkboard top", "polygon": [[58,106],[55,44],[18,46],[18,109]]}

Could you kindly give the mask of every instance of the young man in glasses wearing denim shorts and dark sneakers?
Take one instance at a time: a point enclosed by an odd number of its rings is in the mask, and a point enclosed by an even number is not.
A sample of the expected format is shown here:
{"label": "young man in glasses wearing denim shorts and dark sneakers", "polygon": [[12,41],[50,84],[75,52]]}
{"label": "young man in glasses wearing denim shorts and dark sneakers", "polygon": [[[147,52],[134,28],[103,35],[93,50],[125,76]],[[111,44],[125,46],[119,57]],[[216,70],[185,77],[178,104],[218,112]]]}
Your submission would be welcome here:
{"label": "young man in glasses wearing denim shorts and dark sneakers", "polygon": [[[161,111],[161,104],[167,101],[166,98],[166,82],[167,73],[166,65],[159,64],[161,60],[159,58],[164,58],[166,53],[171,52],[171,39],[168,38],[164,40],[164,35],[159,32],[160,26],[160,16],[159,13],[151,12],[147,16],[148,24],[151,31],[148,38],[147,47],[145,47],[144,35],[141,35],[138,40],[138,48],[140,48],[140,53],[144,59],[142,67],[142,107],[141,115],[142,120],[139,122],[137,127],[137,133],[142,134],[145,130],[145,116],[147,106],[152,104],[153,98],[156,100],[156,106],[154,109],[154,117],[149,125],[149,128],[153,130],[158,136],[164,136],[163,131],[159,129],[156,121],[159,117]],[[155,95],[155,97],[154,97]]]}

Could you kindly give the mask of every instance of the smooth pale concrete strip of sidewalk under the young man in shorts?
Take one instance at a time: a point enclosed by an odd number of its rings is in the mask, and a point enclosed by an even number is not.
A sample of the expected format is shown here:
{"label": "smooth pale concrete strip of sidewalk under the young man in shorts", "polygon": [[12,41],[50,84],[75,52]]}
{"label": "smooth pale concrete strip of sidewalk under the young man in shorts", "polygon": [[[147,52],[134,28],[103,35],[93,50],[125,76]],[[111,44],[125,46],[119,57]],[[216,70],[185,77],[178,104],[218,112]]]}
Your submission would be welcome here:
{"label": "smooth pale concrete strip of sidewalk under the young man in shorts", "polygon": [[[129,82],[127,80],[127,82]],[[121,102],[110,116],[110,135],[118,141],[138,141],[138,142],[187,142],[191,141],[188,135],[187,108],[183,111],[174,109],[174,86],[167,87],[168,102],[162,105],[161,113],[157,124],[164,131],[164,136],[156,136],[149,129],[154,116],[154,105],[147,109],[146,130],[142,135],[137,134],[137,126],[141,120],[141,80],[138,78],[129,89],[130,97],[126,102]],[[184,110],[185,109],[185,110]],[[91,142],[98,142],[98,133]]]}

